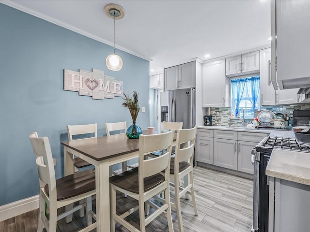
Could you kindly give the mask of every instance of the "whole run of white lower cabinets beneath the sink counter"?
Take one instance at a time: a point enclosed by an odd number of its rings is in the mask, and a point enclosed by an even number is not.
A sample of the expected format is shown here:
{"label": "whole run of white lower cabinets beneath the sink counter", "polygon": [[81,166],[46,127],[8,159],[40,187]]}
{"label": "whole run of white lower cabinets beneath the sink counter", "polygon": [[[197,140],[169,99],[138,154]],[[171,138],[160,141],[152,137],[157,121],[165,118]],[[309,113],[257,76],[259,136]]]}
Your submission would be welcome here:
{"label": "whole run of white lower cabinets beneath the sink counter", "polygon": [[268,133],[198,129],[196,160],[253,174],[252,149]]}

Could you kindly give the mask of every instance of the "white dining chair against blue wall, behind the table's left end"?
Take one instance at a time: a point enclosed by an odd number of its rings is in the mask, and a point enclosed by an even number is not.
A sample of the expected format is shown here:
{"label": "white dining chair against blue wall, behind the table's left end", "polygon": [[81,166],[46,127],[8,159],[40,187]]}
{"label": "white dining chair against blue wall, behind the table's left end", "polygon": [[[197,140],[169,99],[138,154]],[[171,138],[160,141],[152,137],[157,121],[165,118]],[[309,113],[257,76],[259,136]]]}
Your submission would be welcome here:
{"label": "white dining chair against blue wall, behind the table's left end", "polygon": [[[79,137],[78,139],[84,139],[85,136],[88,135],[86,138],[96,138],[97,137],[97,123],[94,124],[84,124],[84,125],[67,125],[67,133],[69,141],[73,140],[73,136],[81,136],[84,135],[82,138]],[[79,168],[84,168],[90,166],[89,162],[82,160],[79,157],[75,157],[73,159],[73,163],[75,166],[75,172],[78,171]]]}

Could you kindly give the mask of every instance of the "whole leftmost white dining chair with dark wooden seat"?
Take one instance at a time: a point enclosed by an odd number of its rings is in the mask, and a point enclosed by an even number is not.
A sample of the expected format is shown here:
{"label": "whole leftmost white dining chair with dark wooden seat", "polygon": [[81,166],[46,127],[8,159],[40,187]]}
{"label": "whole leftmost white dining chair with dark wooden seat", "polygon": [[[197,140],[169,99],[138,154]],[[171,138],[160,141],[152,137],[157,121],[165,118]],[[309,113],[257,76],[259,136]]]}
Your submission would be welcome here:
{"label": "whole leftmost white dining chair with dark wooden seat", "polygon": [[[67,175],[60,179],[55,178],[54,162],[49,140],[47,137],[38,137],[36,132],[29,136],[34,154],[37,156],[36,164],[39,174],[39,217],[37,232],[46,228],[47,232],[56,232],[57,221],[72,215],[73,212],[86,207],[87,226],[80,231],[89,232],[96,227],[93,223],[95,215],[92,210],[92,196],[95,194],[94,170],[86,170]],[[57,215],[57,209],[73,204],[80,200],[82,205]],[[45,203],[49,207],[49,218],[45,215]]]}

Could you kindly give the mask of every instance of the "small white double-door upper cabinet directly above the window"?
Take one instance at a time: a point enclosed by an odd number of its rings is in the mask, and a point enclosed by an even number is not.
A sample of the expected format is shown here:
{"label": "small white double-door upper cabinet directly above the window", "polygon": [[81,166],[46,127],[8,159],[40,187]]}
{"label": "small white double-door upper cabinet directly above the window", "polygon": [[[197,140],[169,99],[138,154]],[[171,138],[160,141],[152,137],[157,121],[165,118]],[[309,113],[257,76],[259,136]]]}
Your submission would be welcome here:
{"label": "small white double-door upper cabinet directly above the window", "polygon": [[236,76],[240,73],[259,72],[260,51],[231,57],[226,59],[226,75]]}

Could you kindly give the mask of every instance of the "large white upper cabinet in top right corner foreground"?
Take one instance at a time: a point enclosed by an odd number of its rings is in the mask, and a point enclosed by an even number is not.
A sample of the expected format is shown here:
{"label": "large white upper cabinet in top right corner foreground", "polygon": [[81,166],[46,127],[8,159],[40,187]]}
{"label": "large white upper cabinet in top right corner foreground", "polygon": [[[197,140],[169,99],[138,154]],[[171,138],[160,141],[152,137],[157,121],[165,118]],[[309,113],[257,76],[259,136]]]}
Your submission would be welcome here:
{"label": "large white upper cabinet in top right corner foreground", "polygon": [[[271,1],[271,34],[276,34],[277,82],[280,89],[310,87],[310,1]],[[275,37],[273,37],[274,39]]]}

